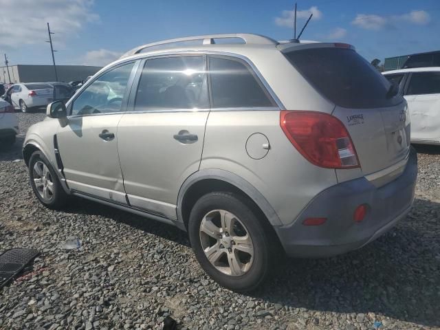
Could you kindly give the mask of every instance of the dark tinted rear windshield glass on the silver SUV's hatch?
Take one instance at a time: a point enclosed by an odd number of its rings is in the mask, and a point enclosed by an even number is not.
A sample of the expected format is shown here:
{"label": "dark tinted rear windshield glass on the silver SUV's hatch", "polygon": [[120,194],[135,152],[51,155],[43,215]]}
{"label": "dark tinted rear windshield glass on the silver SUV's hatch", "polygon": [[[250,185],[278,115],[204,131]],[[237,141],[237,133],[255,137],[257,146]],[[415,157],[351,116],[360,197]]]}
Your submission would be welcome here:
{"label": "dark tinted rear windshield glass on the silver SUV's hatch", "polygon": [[311,48],[285,55],[322,96],[340,107],[390,107],[402,100],[387,98],[391,84],[354,50]]}

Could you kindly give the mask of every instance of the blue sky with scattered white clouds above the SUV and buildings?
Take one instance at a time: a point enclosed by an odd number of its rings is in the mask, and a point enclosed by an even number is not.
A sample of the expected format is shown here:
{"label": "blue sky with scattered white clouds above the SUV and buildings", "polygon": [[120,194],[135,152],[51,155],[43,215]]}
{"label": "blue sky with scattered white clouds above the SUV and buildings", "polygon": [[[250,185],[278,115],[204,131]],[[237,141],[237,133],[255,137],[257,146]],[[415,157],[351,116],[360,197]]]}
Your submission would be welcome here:
{"label": "blue sky with scattered white clouds above the SUV and buildings", "polygon": [[[106,65],[137,45],[181,36],[293,37],[294,1],[0,0],[0,65]],[[367,60],[440,50],[439,0],[298,0],[301,39],[355,45]]]}

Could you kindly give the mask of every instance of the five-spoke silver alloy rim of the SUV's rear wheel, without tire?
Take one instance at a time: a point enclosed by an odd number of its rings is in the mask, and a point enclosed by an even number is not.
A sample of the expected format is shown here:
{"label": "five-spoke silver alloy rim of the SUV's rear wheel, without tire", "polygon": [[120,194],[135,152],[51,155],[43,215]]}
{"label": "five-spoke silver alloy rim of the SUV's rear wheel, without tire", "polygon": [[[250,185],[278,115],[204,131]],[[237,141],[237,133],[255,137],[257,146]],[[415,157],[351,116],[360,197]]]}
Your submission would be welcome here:
{"label": "five-spoke silver alloy rim of the SUV's rear wheel, without tire", "polygon": [[212,210],[200,223],[201,248],[223,274],[242,276],[254,261],[254,245],[245,225],[231,212]]}

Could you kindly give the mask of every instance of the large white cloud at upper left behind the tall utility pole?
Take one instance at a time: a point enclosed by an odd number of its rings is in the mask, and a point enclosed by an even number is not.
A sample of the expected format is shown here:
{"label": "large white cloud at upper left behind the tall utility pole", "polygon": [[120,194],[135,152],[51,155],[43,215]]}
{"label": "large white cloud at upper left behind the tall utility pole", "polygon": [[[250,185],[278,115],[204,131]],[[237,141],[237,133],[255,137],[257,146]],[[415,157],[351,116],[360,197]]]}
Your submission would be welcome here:
{"label": "large white cloud at upper left behind the tall utility pole", "polygon": [[54,47],[78,35],[86,23],[99,21],[91,11],[94,0],[1,0],[0,47],[43,44],[47,39],[47,22]]}

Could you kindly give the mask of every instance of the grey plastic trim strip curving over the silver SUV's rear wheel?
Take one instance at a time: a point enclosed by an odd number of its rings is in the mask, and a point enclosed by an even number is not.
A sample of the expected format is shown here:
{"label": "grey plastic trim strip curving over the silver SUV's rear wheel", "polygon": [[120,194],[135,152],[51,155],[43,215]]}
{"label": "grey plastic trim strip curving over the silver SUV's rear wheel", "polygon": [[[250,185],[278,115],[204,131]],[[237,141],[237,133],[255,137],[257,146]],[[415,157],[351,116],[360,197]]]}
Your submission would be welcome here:
{"label": "grey plastic trim strip curving over the silver SUV's rear wheel", "polygon": [[271,225],[282,225],[278,214],[276,214],[270,203],[263,195],[261,195],[259,190],[252,186],[252,184],[242,177],[229,172],[228,170],[209,168],[193,173],[184,181],[184,184],[182,184],[179,190],[179,195],[177,196],[177,226],[179,228],[184,229],[184,217],[181,212],[184,196],[193,184],[203,179],[217,179],[219,181],[225,181],[228,184],[232,184],[232,186],[236,186],[236,188],[239,188],[241,191],[245,192],[245,194],[248,195],[256,203],[256,205],[259,206],[259,208],[261,208]]}

